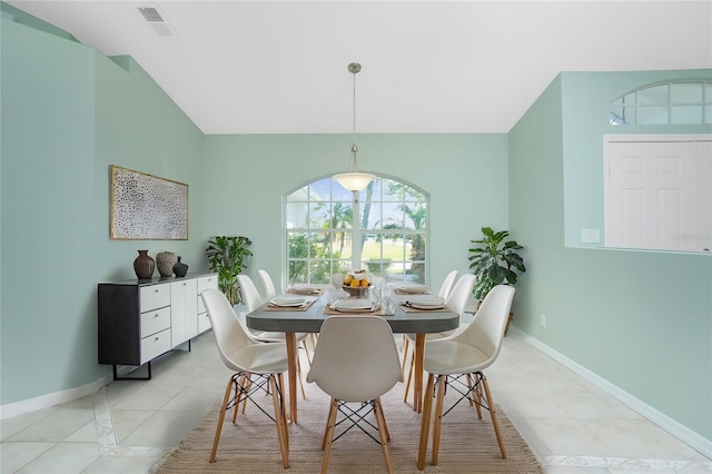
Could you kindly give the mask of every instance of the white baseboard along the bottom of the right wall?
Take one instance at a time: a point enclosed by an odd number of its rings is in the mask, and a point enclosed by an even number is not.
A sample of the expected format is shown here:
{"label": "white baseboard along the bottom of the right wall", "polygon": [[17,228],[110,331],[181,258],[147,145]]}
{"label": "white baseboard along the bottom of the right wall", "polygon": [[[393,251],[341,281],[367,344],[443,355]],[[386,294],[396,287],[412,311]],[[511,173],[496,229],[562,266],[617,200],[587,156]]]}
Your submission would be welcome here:
{"label": "white baseboard along the bottom of the right wall", "polygon": [[639,413],[641,416],[650,419],[655,423],[661,428],[665,429],[671,435],[675,436],[693,450],[699,451],[702,455],[709,456],[709,453],[712,453],[712,441],[703,437],[699,433],[693,432],[681,423],[672,419],[670,416],[664,413],[659,412],[641,399],[634,397],[630,393],[625,392],[621,387],[613,385],[605,378],[600,375],[589,371],[586,367],[577,364],[576,362],[570,359],[563,354],[554,350],[546,344],[541,340],[530,336],[528,334],[517,329],[514,326],[510,327],[510,330],[516,333],[517,336],[522,337],[524,340],[548,355],[554,361],[558,362],[570,371],[581,375],[586,381],[601,388],[606,394],[611,395],[613,398],[621,402],[623,405]]}

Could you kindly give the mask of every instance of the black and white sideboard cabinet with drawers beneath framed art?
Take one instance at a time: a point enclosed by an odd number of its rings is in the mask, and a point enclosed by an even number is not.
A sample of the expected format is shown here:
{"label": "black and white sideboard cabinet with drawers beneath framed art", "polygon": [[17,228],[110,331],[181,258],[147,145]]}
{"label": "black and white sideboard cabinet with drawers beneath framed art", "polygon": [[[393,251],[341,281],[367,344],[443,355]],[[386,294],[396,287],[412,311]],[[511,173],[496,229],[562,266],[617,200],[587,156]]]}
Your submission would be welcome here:
{"label": "black and white sideboard cabinet with drawers beneath framed art", "polygon": [[217,274],[99,284],[99,364],[140,366],[210,328],[200,293]]}

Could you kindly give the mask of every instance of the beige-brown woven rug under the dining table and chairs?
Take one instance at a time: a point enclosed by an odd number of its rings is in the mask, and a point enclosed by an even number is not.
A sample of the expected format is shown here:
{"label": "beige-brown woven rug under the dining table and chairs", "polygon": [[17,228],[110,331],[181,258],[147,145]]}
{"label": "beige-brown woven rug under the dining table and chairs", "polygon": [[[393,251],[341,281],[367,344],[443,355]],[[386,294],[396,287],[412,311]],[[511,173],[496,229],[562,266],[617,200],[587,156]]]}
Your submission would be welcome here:
{"label": "beige-brown woven rug under the dining table and chairs", "polygon": [[[227,383],[227,379],[225,381]],[[226,416],[218,453],[208,463],[217,426],[218,408],[214,408],[190,436],[158,465],[156,473],[316,473],[322,468],[322,434],[328,411],[328,397],[314,384],[305,384],[307,399],[299,397],[298,424],[289,425],[289,470],[285,471],[279,454],[277,431],[257,407],[248,405],[237,424]],[[418,473],[417,450],[421,415],[403,403],[404,384],[397,384],[382,398],[390,431],[390,456],[397,473]],[[258,397],[263,397],[258,395]],[[446,403],[449,396],[446,398]],[[271,398],[264,396],[268,413]],[[448,405],[446,405],[448,406]],[[229,412],[231,414],[231,412]],[[373,414],[370,421],[375,424]],[[531,450],[506,414],[500,409],[497,419],[507,458],[502,460],[492,422],[486,412],[478,419],[476,412],[461,403],[443,418],[443,435],[438,465],[432,466],[432,436],[425,473],[543,473]],[[337,428],[338,429],[338,428]],[[377,436],[377,435],[376,435]],[[380,446],[358,428],[353,428],[334,442],[329,458],[330,473],[386,472]]]}

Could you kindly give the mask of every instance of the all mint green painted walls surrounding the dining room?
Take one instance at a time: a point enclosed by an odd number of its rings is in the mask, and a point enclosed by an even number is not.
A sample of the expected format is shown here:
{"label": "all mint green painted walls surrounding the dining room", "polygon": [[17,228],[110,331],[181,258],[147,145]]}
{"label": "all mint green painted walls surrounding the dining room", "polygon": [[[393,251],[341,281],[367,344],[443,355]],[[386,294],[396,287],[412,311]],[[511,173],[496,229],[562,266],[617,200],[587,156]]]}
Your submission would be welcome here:
{"label": "all mint green painted walls surrounding the dining room", "polygon": [[[139,248],[204,270],[210,236],[247,235],[249,273],[281,276],[281,196],[346,169],[350,147],[348,135],[204,136],[130,58],[49,30],[1,24],[2,405],[109,374],[96,363],[96,285],[132,278]],[[562,73],[508,135],[363,135],[358,146],[360,169],[429,192],[431,283],[467,270],[479,227],[508,228],[526,246],[515,326],[712,440],[712,258],[577,243],[581,227],[602,228],[607,102],[700,73]],[[189,240],[110,240],[111,164],[187,182]]]}

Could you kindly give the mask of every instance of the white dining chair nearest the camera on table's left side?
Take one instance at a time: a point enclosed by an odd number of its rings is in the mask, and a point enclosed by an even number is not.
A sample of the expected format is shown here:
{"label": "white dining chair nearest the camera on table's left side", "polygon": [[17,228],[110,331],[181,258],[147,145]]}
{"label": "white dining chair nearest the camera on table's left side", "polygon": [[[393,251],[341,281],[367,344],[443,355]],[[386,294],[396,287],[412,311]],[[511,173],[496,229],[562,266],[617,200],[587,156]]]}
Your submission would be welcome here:
{"label": "white dining chair nearest the camera on table's left side", "polygon": [[249,337],[238,324],[233,306],[220,290],[209,288],[202,292],[200,297],[212,326],[220,358],[230,371],[235,372],[225,388],[209,462],[215,462],[226,412],[233,409],[233,423],[235,423],[239,404],[249,398],[263,413],[267,414],[259,405],[258,398],[254,396],[257,392],[266,392],[271,393],[281,461],[285,467],[289,467],[289,432],[284,398],[284,374],[287,372],[286,345],[259,343]]}

